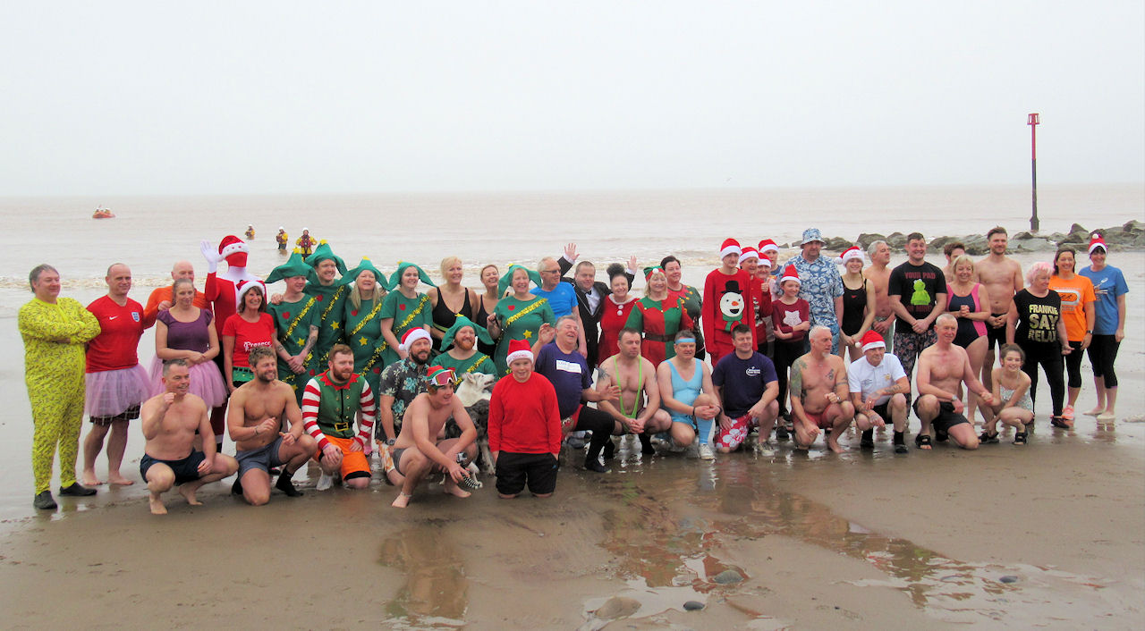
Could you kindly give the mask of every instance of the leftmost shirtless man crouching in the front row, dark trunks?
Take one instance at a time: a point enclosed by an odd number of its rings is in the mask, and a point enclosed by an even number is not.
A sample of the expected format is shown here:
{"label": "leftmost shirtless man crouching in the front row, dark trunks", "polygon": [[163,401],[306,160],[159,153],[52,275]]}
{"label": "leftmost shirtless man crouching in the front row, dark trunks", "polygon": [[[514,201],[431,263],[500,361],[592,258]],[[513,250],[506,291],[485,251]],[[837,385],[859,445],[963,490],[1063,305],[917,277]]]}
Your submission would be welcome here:
{"label": "leftmost shirtless man crouching in the front row, dark trunks", "polygon": [[[140,460],[140,476],[147,480],[151,492],[148,501],[151,513],[167,514],[167,508],[159,497],[171,487],[179,485],[179,493],[187,503],[199,506],[195,492],[207,482],[221,480],[238,471],[235,458],[215,454],[213,440],[203,441],[203,450],[194,448],[195,431],[200,436],[212,436],[211,415],[203,399],[188,393],[191,384],[185,359],[171,359],[163,365],[163,394],[143,402],[140,417],[143,420],[143,457]],[[188,455],[183,455],[188,454]]]}

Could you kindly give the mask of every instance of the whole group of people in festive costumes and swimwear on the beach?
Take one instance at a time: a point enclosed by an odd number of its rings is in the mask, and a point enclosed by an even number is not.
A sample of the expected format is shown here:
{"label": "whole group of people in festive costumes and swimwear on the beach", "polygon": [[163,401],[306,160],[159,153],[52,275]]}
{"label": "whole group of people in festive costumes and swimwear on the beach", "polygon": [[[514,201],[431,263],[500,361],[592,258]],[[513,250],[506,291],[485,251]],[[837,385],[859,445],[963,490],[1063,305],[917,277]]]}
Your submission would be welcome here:
{"label": "whole group of people in festive costumes and swimwear on the beach", "polygon": [[[758,444],[774,431],[797,449],[822,436],[843,452],[852,423],[860,448],[872,449],[876,430],[891,424],[891,446],[906,454],[911,408],[919,449],[997,442],[1000,424],[1021,445],[1034,426],[1039,366],[1050,423],[1073,426],[1084,351],[1097,398],[1085,414],[1114,421],[1128,288],[1106,264],[1101,237],[1085,253],[1090,266],[1075,271],[1077,253],[1060,247],[1025,275],[1006,256],[1004,229],[987,239],[989,254],[977,262],[948,243],[945,270],[925,261],[919,233],[893,269],[884,241],[866,255],[855,246],[828,257],[818,229],[782,264],[769,239],[727,239],[702,289],[682,283],[674,256],[639,272],[634,257],[614,263],[606,283],[569,243],[536,269],[487,265],[475,290],[463,285],[457,257],[441,262],[436,285],[410,262],[388,277],[369,258],[349,270],[324,241],[262,280],[246,267],[247,245],[227,237],[200,245],[202,291],[194,265],[180,261],[145,306],[128,297],[123,263],[87,307],[60,297],[58,272],[38,265],[29,275],[35,296],[18,317],[33,504],[56,506],[57,452],[60,494],[94,494],[105,441],[108,481],[132,484],[120,466],[133,418],[147,441],[140,473],[155,513],[166,512],[171,488],[197,504],[202,485],[235,473],[232,493],[252,505],[273,489],[301,495],[292,477],[308,462],[321,471],[318,490],[366,488],[374,452],[398,489],[394,506],[434,471],[447,493],[468,496],[481,486],[475,462],[495,471],[500,497],[526,487],[546,497],[563,445],[584,449],[586,471],[607,473],[614,437],[627,434],[642,456],[713,460],[753,432]],[[632,293],[638,274],[642,297]],[[268,293],[279,280],[285,290]],[[136,348],[151,326],[148,370]],[[92,429],[77,480],[85,410]],[[224,431],[234,456],[222,453]]]}

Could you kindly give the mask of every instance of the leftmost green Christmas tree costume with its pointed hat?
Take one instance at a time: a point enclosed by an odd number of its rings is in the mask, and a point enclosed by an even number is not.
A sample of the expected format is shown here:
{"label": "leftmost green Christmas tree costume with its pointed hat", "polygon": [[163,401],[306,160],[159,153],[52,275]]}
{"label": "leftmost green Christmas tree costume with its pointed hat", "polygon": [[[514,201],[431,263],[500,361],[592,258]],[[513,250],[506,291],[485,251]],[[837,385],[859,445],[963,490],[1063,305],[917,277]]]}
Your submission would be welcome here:
{"label": "leftmost green Christmas tree costume with its pointed hat", "polygon": [[[267,277],[267,283],[295,277],[309,277],[314,270],[302,259],[299,249],[290,256],[286,263],[278,265]],[[314,345],[318,340],[319,310],[318,301],[314,296],[302,294],[297,302],[286,302],[284,297],[278,304],[268,304],[267,312],[275,319],[275,340],[278,341],[275,351],[278,354],[278,378],[294,389],[299,406],[302,405],[302,391],[306,383],[316,374],[317,367],[314,364]],[[311,328],[314,332],[311,335]],[[279,346],[282,350],[279,350]],[[289,357],[302,354],[305,358],[301,374],[291,369],[287,360],[282,353]]]}

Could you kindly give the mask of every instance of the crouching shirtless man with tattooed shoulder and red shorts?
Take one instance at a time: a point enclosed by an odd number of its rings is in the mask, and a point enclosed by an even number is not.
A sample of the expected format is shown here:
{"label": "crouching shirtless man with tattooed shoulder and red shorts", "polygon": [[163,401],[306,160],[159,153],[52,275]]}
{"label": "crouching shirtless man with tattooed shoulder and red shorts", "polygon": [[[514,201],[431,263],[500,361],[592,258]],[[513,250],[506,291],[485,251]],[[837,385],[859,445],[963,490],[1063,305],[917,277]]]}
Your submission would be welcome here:
{"label": "crouching shirtless man with tattooed shoulder and red shorts", "polygon": [[811,352],[791,365],[791,416],[795,442],[807,449],[820,430],[830,430],[827,446],[843,453],[839,437],[851,425],[855,408],[851,405],[847,368],[843,358],[831,353],[831,329],[814,327],[808,334]]}

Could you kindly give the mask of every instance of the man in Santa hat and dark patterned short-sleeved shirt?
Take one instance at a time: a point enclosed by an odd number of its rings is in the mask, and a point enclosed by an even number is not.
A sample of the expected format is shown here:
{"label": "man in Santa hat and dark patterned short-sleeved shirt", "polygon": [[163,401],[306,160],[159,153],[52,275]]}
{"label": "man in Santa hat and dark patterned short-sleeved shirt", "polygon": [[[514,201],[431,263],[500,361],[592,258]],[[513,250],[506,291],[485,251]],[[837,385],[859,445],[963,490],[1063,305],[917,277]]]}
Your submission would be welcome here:
{"label": "man in Santa hat and dark patterned short-sleeved shirt", "polygon": [[[378,416],[374,438],[393,447],[402,431],[402,417],[413,399],[425,392],[426,366],[433,351],[429,332],[421,327],[411,328],[402,336],[401,349],[405,359],[400,359],[381,372],[378,381]],[[389,464],[386,465],[387,473]]]}

